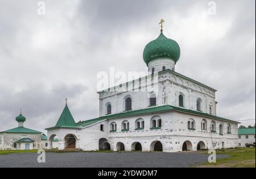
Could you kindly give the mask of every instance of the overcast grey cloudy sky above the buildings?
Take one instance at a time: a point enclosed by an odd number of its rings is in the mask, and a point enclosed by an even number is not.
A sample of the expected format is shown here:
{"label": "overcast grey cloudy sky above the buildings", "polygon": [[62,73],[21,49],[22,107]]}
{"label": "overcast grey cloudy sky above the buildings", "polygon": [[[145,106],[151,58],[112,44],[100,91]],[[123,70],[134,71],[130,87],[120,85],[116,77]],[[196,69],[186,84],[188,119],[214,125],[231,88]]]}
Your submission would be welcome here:
{"label": "overcast grey cloudy sky above the buildings", "polygon": [[[54,126],[65,105],[76,121],[98,116],[97,73],[146,70],[145,45],[179,43],[176,72],[217,89],[217,115],[255,119],[255,1],[0,0],[0,131]],[[243,122],[254,125],[255,120]]]}

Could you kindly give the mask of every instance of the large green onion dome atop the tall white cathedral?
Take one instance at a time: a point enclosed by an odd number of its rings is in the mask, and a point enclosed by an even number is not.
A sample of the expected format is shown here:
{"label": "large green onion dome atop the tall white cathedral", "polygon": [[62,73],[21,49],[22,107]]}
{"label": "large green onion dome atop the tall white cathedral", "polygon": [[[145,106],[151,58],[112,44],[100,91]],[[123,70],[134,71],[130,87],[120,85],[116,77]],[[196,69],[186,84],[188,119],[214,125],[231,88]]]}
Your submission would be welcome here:
{"label": "large green onion dome atop the tall white cathedral", "polygon": [[177,63],[180,59],[180,47],[175,40],[168,39],[163,35],[146,45],[143,51],[143,60],[148,63],[155,59],[172,59]]}

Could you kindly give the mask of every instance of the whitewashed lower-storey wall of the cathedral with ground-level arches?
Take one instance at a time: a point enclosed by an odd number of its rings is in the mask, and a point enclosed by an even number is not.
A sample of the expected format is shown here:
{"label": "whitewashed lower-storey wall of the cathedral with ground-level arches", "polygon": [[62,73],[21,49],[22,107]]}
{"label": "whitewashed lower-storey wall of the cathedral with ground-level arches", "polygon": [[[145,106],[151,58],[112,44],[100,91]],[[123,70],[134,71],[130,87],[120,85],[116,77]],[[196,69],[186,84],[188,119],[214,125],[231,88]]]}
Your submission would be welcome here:
{"label": "whitewashed lower-storey wall of the cathedral with ground-level arches", "polygon": [[[151,130],[151,119],[154,116],[162,119],[162,127],[160,129]],[[135,130],[135,121],[139,118],[144,120],[144,129]],[[195,120],[196,130],[188,130],[187,122],[189,119]],[[207,130],[201,130],[201,120],[207,121]],[[122,122],[127,120],[130,129],[127,132],[122,132]],[[219,128],[216,128],[216,133],[210,132],[210,122],[215,121],[216,126],[220,123],[224,125],[224,135],[219,134]],[[110,132],[110,124],[117,124],[117,131]],[[100,131],[100,124],[104,124],[104,131]],[[232,126],[231,134],[228,134],[228,124]],[[204,118],[202,116],[184,114],[177,111],[168,111],[164,113],[147,114],[139,116],[129,116],[127,118],[118,118],[105,120],[103,122],[86,127],[82,130],[72,129],[57,129],[48,131],[48,137],[56,135],[59,141],[59,149],[64,149],[64,138],[68,134],[76,136],[76,148],[84,151],[98,150],[98,141],[101,138],[108,140],[112,150],[117,150],[117,143],[122,142],[125,145],[126,151],[132,150],[132,145],[135,142],[142,144],[143,151],[150,151],[150,145],[154,141],[160,141],[163,144],[164,152],[179,152],[182,151],[184,141],[189,140],[192,143],[193,151],[197,150],[199,141],[203,141],[208,149],[237,147],[237,123],[225,122],[222,120]]]}

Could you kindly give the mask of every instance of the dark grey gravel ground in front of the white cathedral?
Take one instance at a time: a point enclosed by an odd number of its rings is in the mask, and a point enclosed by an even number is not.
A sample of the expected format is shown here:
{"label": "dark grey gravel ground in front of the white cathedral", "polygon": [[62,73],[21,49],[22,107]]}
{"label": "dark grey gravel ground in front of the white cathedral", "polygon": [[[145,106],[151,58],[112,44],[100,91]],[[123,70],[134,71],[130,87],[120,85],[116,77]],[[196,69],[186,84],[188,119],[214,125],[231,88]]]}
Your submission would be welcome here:
{"label": "dark grey gravel ground in front of the white cathedral", "polygon": [[[218,155],[217,158],[228,157]],[[37,153],[0,155],[0,167],[92,167],[92,168],[177,168],[208,161],[200,153],[161,152],[77,152],[46,153],[46,163],[37,162]]]}

